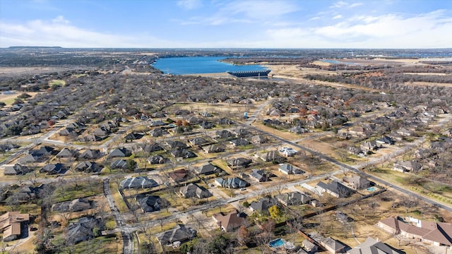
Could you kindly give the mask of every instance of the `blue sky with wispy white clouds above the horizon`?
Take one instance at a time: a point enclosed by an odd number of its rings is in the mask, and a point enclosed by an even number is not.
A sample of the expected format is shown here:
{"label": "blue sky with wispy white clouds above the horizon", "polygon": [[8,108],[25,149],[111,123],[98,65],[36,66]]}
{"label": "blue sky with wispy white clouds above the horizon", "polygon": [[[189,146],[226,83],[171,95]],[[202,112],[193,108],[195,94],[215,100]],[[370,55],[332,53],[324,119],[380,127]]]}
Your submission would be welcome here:
{"label": "blue sky with wispy white clouds above the horizon", "polygon": [[0,0],[0,47],[444,48],[452,0]]}

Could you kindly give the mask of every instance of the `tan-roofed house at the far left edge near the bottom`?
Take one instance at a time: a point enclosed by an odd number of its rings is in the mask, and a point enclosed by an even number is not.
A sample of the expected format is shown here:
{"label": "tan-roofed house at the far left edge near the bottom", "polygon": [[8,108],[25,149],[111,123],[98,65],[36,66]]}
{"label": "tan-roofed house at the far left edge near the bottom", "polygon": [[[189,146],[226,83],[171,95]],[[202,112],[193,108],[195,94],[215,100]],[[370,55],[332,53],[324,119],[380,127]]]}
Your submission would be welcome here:
{"label": "tan-roofed house at the far left edge near the bottom", "polygon": [[0,216],[0,232],[3,233],[3,241],[13,241],[25,234],[28,230],[30,214],[20,212],[6,212]]}

